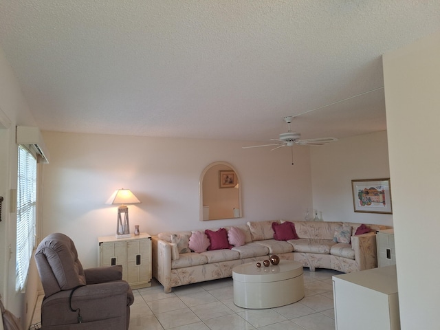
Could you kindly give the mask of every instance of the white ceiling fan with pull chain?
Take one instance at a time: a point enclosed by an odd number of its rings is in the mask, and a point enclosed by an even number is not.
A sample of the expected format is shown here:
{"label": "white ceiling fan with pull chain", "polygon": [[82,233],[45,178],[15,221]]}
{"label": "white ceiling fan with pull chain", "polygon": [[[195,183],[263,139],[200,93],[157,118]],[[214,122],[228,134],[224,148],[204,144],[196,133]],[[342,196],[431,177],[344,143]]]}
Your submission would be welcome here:
{"label": "white ceiling fan with pull chain", "polygon": [[[299,144],[300,146],[322,146],[324,144],[328,144],[333,141],[338,141],[336,137],[318,137],[316,139],[305,139],[301,140],[301,134],[292,132],[292,129],[290,129],[290,124],[292,123],[292,120],[294,119],[293,115],[288,115],[284,118],[284,121],[287,122],[287,133],[281,133],[278,139],[270,139],[271,141],[274,141],[272,144],[261,144],[258,146],[243,146],[242,148],[259,148],[260,146],[276,146],[275,148],[271,149],[271,151],[274,151],[278,148],[283,148],[283,146],[293,146],[294,144]],[[293,157],[293,155],[292,155]],[[294,163],[292,162],[292,165]]]}

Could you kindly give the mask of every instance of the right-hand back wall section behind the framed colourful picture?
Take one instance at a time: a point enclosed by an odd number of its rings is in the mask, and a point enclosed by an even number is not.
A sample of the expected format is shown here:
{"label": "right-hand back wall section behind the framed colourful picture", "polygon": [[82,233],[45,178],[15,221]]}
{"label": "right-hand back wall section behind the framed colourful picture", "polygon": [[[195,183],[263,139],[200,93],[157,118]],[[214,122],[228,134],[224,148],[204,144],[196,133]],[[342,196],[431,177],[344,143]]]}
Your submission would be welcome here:
{"label": "right-hand back wall section behind the framed colourful picture", "polygon": [[[351,180],[390,177],[386,131],[311,148],[314,208],[325,221],[393,225],[392,214],[354,212]],[[393,178],[391,178],[393,190]]]}

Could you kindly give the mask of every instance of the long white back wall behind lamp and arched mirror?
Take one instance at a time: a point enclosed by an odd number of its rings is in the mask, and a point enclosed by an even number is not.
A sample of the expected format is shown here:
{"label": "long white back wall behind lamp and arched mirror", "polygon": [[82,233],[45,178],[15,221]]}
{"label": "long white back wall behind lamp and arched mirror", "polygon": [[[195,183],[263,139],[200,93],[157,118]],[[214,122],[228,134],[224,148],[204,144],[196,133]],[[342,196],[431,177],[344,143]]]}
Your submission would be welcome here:
{"label": "long white back wall behind lamp and arched mirror", "polygon": [[[302,219],[311,208],[309,147],[243,149],[239,141],[185,140],[43,132],[44,234],[64,232],[85,267],[97,265],[98,236],[113,235],[117,207],[104,204],[117,188],[142,203],[129,206],[131,231],[219,228],[246,221]],[[229,162],[241,177],[243,218],[199,221],[199,177],[212,162]]]}

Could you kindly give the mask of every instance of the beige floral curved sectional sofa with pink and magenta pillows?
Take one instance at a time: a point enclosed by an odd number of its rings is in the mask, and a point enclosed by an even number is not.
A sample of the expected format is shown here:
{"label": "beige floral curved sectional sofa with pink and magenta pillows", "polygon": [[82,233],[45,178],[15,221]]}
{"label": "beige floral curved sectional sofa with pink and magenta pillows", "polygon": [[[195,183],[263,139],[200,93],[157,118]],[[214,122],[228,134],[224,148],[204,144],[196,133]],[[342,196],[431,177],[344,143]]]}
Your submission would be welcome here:
{"label": "beige floral curved sectional sofa with pink and magenta pillows", "polygon": [[[153,276],[162,283],[165,292],[171,292],[173,287],[180,285],[230,277],[236,265],[262,261],[272,254],[280,259],[299,261],[311,271],[316,268],[344,273],[368,270],[377,267],[376,230],[390,228],[367,224],[371,232],[355,235],[360,223],[291,221],[298,239],[278,241],[274,239],[274,222],[285,221],[250,221],[236,225],[234,227],[244,233],[244,245],[199,253],[188,252],[192,231],[159,233],[152,237]],[[333,241],[335,232],[341,227],[351,230],[350,243]]]}

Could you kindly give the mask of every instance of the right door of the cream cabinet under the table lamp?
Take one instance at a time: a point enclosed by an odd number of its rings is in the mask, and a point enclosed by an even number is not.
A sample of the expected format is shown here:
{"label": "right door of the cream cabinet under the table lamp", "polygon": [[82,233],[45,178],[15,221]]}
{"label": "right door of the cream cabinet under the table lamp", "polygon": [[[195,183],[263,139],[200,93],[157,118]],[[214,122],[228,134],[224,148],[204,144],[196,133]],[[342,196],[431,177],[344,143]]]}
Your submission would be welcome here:
{"label": "right door of the cream cabinet under the table lamp", "polygon": [[126,242],[127,282],[132,288],[151,281],[151,239]]}

